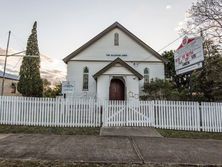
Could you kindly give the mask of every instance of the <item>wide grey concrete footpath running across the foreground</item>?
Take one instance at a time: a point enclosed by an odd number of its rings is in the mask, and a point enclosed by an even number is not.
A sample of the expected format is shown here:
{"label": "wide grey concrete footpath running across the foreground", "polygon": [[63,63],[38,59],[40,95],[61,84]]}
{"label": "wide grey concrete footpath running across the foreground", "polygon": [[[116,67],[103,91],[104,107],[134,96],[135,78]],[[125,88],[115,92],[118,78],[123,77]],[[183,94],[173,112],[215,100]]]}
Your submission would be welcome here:
{"label": "wide grey concrete footpath running across the foreground", "polygon": [[0,138],[0,159],[222,165],[222,141],[12,134]]}

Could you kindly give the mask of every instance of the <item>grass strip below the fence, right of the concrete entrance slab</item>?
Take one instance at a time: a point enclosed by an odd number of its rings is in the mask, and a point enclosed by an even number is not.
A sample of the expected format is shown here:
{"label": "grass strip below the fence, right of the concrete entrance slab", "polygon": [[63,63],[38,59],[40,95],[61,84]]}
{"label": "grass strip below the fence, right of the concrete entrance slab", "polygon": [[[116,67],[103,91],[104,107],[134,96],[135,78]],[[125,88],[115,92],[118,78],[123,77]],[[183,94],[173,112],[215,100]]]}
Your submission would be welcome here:
{"label": "grass strip below the fence, right of the concrete entrance slab", "polygon": [[158,129],[158,128],[156,130],[163,137],[222,140],[222,133],[167,130],[167,129]]}

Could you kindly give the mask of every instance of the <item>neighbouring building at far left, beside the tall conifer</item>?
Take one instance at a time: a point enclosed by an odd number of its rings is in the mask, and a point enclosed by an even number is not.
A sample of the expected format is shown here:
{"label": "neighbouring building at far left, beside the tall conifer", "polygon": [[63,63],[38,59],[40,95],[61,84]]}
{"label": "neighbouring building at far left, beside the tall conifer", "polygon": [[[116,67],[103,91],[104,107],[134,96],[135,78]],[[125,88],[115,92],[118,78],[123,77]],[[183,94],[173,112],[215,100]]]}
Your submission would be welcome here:
{"label": "neighbouring building at far left, beside the tall conifer", "polygon": [[[0,92],[2,90],[2,80],[3,72],[0,71]],[[4,96],[19,96],[20,93],[17,91],[17,83],[19,77],[17,75],[5,73],[5,82],[4,82]]]}

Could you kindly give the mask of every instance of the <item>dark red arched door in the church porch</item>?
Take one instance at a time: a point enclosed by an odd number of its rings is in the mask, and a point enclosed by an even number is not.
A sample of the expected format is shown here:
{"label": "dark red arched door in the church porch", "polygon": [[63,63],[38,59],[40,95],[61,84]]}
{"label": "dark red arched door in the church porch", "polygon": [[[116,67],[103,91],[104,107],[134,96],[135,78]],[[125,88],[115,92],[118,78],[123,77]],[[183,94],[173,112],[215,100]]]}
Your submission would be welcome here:
{"label": "dark red arched door in the church porch", "polygon": [[124,100],[124,84],[119,79],[112,79],[109,88],[110,100]]}

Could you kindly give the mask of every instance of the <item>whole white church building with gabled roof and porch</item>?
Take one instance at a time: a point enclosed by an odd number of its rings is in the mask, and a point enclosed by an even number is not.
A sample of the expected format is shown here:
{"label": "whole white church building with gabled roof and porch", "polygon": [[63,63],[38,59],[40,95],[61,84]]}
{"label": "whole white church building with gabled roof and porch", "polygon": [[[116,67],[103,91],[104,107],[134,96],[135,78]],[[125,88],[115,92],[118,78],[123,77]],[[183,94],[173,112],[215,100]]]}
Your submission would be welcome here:
{"label": "whole white church building with gabled roof and porch", "polygon": [[144,83],[164,79],[166,61],[115,22],[65,57],[74,97],[138,100]]}

